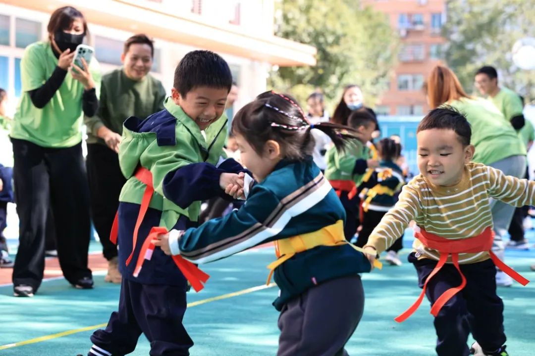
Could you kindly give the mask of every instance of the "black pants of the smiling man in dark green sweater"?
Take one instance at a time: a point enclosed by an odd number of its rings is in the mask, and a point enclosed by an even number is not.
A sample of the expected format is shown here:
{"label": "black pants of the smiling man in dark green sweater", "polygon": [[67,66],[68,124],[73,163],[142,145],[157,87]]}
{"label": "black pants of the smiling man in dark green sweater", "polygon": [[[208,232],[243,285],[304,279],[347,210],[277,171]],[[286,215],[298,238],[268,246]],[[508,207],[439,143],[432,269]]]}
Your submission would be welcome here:
{"label": "black pants of the smiling man in dark green sweater", "polygon": [[110,241],[111,226],[119,208],[119,194],[126,178],[119,167],[119,156],[100,144],[87,145],[87,177],[91,216],[107,260],[117,256],[117,247]]}

